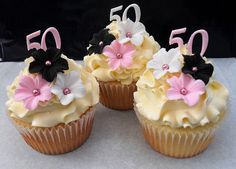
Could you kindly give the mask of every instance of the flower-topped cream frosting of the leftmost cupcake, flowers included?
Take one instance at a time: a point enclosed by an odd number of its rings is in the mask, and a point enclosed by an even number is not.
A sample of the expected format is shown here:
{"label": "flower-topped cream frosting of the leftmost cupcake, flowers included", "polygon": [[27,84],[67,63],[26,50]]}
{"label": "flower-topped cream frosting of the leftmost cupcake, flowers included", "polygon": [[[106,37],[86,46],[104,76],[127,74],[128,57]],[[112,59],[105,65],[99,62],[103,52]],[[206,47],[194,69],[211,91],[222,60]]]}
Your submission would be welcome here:
{"label": "flower-topped cream frosting of the leftmost cupcake, flowers included", "polygon": [[45,53],[54,55],[51,49],[38,50],[34,57],[26,59],[26,68],[8,86],[6,105],[10,117],[38,127],[80,119],[99,101],[96,79],[57,50],[54,57]]}

